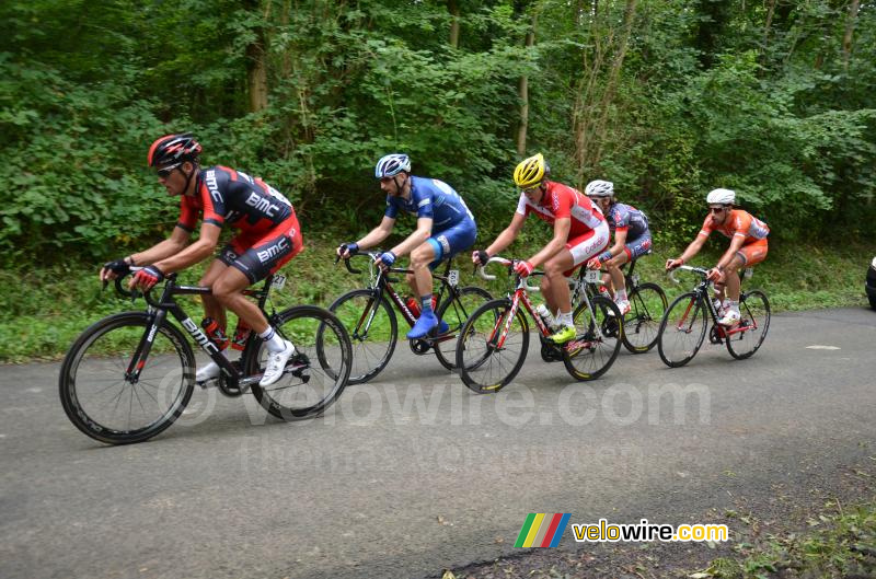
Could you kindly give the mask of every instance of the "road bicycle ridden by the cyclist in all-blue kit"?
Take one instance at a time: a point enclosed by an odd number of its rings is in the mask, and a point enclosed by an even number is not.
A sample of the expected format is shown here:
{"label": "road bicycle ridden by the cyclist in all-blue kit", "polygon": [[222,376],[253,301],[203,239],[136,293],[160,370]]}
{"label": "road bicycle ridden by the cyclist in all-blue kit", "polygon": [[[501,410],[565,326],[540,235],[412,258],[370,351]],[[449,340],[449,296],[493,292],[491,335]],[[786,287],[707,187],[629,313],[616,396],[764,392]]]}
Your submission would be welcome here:
{"label": "road bicycle ridden by the cyclist in all-blue kit", "polygon": [[[413,327],[417,315],[411,311],[407,302],[395,291],[391,274],[411,274],[410,269],[390,268],[383,271],[374,265],[374,259],[380,252],[359,252],[351,257],[361,256],[369,260],[368,287],[353,290],[341,296],[330,306],[344,323],[353,343],[353,371],[350,384],[361,384],[372,380],[389,363],[395,345],[399,340],[399,321],[395,312],[402,320]],[[445,262],[441,273],[434,273],[434,279],[440,283],[436,296],[435,314],[445,324],[446,331],[439,334],[439,328],[434,329],[422,339],[408,340],[411,350],[417,356],[424,356],[429,350],[435,352],[438,361],[448,370],[456,368],[457,337],[462,324],[482,303],[493,299],[493,296],[483,288],[475,286],[459,286],[459,270],[452,269],[452,259]],[[344,265],[351,274],[361,274],[361,270],[350,266],[350,259],[344,259]],[[414,298],[419,302],[419,298]]]}

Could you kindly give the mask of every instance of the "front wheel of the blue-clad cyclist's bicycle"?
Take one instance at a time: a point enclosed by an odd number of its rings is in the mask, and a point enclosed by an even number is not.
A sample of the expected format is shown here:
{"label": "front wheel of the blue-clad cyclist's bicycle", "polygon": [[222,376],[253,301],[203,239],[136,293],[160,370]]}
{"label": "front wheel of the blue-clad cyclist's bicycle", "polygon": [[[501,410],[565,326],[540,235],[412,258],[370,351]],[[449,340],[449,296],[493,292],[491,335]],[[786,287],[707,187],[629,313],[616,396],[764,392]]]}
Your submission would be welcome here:
{"label": "front wheel of the blue-clad cyclist's bicycle", "polygon": [[353,290],[336,299],[328,311],[349,334],[353,363],[347,384],[361,384],[379,374],[390,362],[399,339],[399,323],[392,305],[370,289]]}

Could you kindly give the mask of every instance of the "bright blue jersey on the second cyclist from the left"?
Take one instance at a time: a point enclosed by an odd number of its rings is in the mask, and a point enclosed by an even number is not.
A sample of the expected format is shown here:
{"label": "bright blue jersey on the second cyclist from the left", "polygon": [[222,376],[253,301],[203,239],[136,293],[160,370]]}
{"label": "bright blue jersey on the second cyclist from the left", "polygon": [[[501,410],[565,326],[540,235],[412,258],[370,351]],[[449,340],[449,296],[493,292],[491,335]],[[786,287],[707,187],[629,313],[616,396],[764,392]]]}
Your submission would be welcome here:
{"label": "bright blue jersey on the second cyclist from the left", "polygon": [[437,178],[412,176],[410,199],[387,196],[387,211],[383,215],[395,219],[400,210],[416,213],[417,218],[430,218],[433,234],[463,221],[474,224],[474,216],[465,207],[462,197],[450,185]]}

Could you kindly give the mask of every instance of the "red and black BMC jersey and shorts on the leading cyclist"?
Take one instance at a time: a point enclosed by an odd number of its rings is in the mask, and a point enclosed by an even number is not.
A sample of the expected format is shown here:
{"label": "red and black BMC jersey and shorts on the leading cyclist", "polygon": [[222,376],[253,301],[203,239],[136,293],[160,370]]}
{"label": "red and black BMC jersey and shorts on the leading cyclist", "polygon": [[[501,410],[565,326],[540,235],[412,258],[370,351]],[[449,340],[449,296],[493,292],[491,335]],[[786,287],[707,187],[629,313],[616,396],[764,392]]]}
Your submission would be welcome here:
{"label": "red and black BMC jersey and shorts on the leading cyclist", "polygon": [[240,269],[252,283],[275,273],[304,248],[292,204],[260,178],[227,166],[197,175],[195,195],[183,195],[176,227],[194,231],[204,222],[240,230],[220,252],[219,260]]}

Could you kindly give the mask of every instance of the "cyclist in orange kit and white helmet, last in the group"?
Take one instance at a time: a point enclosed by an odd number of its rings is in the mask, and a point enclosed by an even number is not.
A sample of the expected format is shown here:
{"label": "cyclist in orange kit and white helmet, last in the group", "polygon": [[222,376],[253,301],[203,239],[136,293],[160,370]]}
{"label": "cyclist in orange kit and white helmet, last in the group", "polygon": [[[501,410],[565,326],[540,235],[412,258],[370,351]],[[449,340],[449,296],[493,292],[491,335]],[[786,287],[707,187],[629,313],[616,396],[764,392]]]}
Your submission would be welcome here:
{"label": "cyclist in orange kit and white helmet, last in the group", "polygon": [[[736,192],[731,189],[713,189],[706,196],[706,202],[710,215],[703,222],[703,229],[681,256],[666,260],[666,269],[675,269],[696,255],[712,231],[719,231],[730,238],[730,246],[715,267],[708,270],[708,279],[715,282],[718,300],[722,300],[724,316],[719,320],[721,325],[734,326],[741,319],[739,268],[763,262],[766,257],[766,236],[770,234],[770,228],[751,213],[734,209]],[[726,300],[725,287],[728,298]]]}

